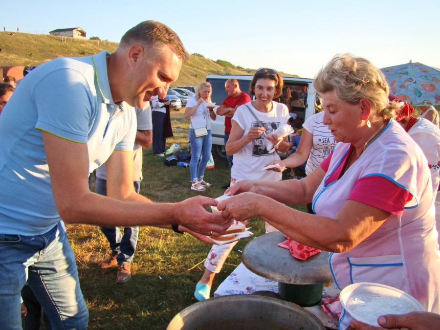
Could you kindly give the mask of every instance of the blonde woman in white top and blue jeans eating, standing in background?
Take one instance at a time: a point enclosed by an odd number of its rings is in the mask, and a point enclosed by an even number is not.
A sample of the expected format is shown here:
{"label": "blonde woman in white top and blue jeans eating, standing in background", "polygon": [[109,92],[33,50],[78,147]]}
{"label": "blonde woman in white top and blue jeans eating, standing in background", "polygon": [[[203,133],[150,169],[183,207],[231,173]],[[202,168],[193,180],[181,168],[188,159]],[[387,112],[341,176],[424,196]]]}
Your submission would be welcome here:
{"label": "blonde woman in white top and blue jeans eating, standing in background", "polygon": [[[206,164],[211,158],[211,124],[209,117],[212,120],[217,118],[214,107],[207,107],[206,103],[211,102],[212,87],[209,82],[201,82],[195,87],[195,96],[191,96],[185,108],[185,118],[191,119],[189,125],[189,143],[191,144],[191,161],[189,162],[189,171],[191,173],[191,189],[195,191],[203,191],[211,186],[203,180]],[[206,127],[206,135],[196,137],[194,129]],[[202,155],[202,159],[200,156]],[[199,163],[200,160],[200,163]],[[197,169],[197,164],[199,168]]]}

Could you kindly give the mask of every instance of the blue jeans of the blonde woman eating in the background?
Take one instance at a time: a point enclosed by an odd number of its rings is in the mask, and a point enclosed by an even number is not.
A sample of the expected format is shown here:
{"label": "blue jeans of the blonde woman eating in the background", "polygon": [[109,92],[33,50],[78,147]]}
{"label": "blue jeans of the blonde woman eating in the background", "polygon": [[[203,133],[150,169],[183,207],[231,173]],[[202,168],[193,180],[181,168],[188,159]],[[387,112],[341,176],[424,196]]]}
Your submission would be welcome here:
{"label": "blue jeans of the blonde woman eating in the background", "polygon": [[[189,143],[191,145],[191,161],[189,162],[189,172],[191,173],[191,182],[201,180],[205,174],[206,164],[211,158],[212,138],[211,130],[208,129],[208,135],[196,138],[194,129],[190,128],[188,133]],[[202,155],[202,159],[200,159]],[[197,164],[199,163],[197,169]]]}

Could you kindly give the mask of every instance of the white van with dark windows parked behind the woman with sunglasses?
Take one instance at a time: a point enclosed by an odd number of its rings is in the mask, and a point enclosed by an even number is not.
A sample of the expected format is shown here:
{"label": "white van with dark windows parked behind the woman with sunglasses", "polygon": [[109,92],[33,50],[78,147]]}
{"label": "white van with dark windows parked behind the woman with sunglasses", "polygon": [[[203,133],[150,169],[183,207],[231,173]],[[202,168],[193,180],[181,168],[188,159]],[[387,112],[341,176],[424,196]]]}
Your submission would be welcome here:
{"label": "white van with dark windows parked behind the woman with sunglasses", "polygon": [[[225,91],[225,82],[228,79],[235,78],[240,84],[240,90],[249,94],[249,86],[252,80],[251,75],[208,75],[206,76],[206,81],[208,81],[212,86],[212,102],[215,102],[215,108],[223,103],[228,94]],[[315,100],[316,92],[312,86],[312,79],[307,78],[293,78],[293,77],[283,77],[284,86],[287,86],[291,90],[291,94],[298,91],[304,96],[300,101],[300,106],[290,105],[290,112],[295,113],[298,118],[306,120],[315,113]],[[287,88],[284,87],[284,88]],[[284,99],[275,99],[277,102],[284,103]],[[211,135],[212,135],[212,155],[221,159],[226,159],[225,153],[225,116],[217,116],[217,119],[211,121]]]}

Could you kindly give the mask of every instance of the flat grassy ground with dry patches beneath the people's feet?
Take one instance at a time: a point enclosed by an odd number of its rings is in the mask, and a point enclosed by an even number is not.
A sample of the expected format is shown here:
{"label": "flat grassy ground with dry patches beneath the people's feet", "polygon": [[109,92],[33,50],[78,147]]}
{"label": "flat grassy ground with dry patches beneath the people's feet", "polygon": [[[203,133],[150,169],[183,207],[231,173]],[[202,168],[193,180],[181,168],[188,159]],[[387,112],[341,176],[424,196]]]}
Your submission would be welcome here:
{"label": "flat grassy ground with dry patches beneath the people's feet", "polygon": [[[183,111],[171,114],[172,143],[188,142],[189,122]],[[167,167],[164,159],[144,149],[144,179],[141,193],[155,202],[179,202],[197,193],[190,190],[189,168]],[[220,188],[229,181],[226,162],[217,161],[205,178],[212,187],[201,193],[210,197],[223,194]],[[123,219],[121,219],[121,222]],[[259,218],[248,226],[256,235],[264,232]],[[90,310],[91,329],[164,329],[173,316],[196,302],[193,291],[203,274],[203,260],[210,246],[194,237],[170,230],[142,227],[137,251],[131,264],[133,278],[125,284],[115,281],[117,268],[102,270],[98,262],[109,254],[108,243],[98,227],[68,225],[68,236],[77,257],[81,289]],[[233,249],[222,272],[215,278],[218,285],[240,263],[240,252],[251,238],[242,239]]]}

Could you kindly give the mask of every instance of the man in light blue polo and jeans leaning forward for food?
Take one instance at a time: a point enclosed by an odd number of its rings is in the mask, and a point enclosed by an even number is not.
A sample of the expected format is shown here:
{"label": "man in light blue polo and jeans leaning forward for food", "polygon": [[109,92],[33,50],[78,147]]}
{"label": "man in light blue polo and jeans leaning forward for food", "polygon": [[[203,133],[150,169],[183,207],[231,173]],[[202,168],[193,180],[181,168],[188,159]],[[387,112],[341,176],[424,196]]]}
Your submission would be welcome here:
{"label": "man in light blue polo and jeans leaning forward for food", "polygon": [[[136,113],[165,97],[188,56],[167,26],[145,21],[115,53],[58,58],[23,79],[0,116],[0,315],[21,328],[20,290],[28,283],[53,328],[85,329],[89,313],[75,255],[62,226],[161,226],[202,240],[230,223],[197,196],[155,204],[133,186]],[[106,163],[107,196],[89,173]]]}

